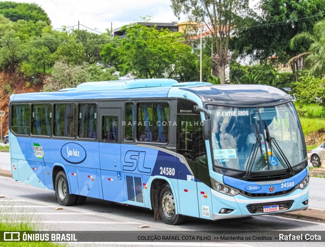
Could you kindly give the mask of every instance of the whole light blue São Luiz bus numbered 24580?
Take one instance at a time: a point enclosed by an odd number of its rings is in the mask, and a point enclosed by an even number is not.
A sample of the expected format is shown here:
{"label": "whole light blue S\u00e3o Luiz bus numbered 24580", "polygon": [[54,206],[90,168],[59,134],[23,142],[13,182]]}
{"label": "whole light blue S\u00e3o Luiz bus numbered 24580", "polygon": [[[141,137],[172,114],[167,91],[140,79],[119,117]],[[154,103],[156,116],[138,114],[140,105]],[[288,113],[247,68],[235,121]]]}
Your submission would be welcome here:
{"label": "whole light blue S\u00e3o Luiz bus numbered 24580", "polygon": [[302,128],[263,85],[146,79],[10,97],[13,179],[147,207],[155,220],[241,218],[308,207]]}

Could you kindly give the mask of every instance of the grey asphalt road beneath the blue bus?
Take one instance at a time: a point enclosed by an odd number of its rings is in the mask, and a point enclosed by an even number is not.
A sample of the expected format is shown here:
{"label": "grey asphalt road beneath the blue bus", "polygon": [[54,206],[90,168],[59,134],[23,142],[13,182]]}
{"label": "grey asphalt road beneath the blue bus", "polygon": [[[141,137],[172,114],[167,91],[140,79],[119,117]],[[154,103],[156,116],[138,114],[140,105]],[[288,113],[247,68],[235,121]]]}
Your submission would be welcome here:
{"label": "grey asphalt road beneath the blue bus", "polygon": [[[12,179],[0,177],[0,211],[5,214],[15,213],[17,217],[24,216],[30,222],[37,223],[43,230],[127,230],[127,231],[325,231],[325,224],[303,220],[294,220],[279,216],[259,216],[243,219],[220,220],[217,222],[196,218],[187,218],[180,226],[169,226],[162,221],[154,221],[151,210],[136,206],[125,206],[99,199],[87,198],[84,205],[61,207],[55,200],[53,191],[39,189]],[[147,228],[139,228],[141,225]],[[229,245],[228,245],[229,244]],[[213,246],[261,246],[259,242],[223,243]],[[268,243],[264,246],[296,246],[295,242]],[[304,243],[306,244],[306,243]],[[135,243],[133,244],[135,245]],[[157,245],[150,243],[150,245]],[[168,243],[167,245],[174,245]],[[179,245],[179,244],[175,244]],[[312,243],[313,246],[323,246],[323,243]],[[200,246],[211,246],[200,243]]]}

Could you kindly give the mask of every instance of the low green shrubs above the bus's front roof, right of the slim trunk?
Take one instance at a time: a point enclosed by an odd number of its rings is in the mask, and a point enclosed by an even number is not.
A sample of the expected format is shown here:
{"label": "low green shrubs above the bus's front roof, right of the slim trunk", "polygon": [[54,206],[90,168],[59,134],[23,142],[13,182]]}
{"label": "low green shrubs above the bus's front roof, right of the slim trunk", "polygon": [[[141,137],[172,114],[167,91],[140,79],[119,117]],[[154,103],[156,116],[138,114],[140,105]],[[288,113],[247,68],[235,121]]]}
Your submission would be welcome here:
{"label": "low green shrubs above the bus's front roof, right of the slim trunk", "polygon": [[[277,77],[277,71],[271,64],[258,64],[252,66],[240,65],[237,62],[232,62],[230,66],[230,81],[233,83],[242,83],[254,78],[254,84],[265,84],[273,86]],[[256,77],[257,76],[257,77]]]}

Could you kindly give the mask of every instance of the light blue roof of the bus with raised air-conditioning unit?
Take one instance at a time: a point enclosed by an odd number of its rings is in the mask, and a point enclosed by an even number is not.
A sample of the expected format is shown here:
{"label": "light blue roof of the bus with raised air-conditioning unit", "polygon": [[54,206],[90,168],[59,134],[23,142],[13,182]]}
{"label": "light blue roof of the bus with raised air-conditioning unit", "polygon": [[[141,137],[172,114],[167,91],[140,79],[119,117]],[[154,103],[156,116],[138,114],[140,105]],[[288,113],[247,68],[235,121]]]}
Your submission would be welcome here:
{"label": "light blue roof of the bus with raised air-conditioning unit", "polygon": [[[82,83],[76,88],[59,92],[23,93],[12,95],[11,101],[91,100],[167,98],[171,91],[185,90],[205,103],[253,106],[289,101],[283,91],[264,85],[212,85],[204,82],[177,83],[172,79],[141,79]],[[184,93],[180,93],[183,95]]]}

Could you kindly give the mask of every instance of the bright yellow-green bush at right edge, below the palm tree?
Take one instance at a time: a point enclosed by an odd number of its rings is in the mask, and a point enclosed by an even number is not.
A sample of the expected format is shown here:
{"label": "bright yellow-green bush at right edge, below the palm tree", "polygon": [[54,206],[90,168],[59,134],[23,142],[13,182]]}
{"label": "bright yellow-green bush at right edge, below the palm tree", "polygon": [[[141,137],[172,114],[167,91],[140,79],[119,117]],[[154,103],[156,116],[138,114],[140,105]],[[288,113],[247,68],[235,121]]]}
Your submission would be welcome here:
{"label": "bright yellow-green bush at right edge, below the palm tree", "polygon": [[296,85],[298,102],[314,103],[315,101],[319,102],[319,100],[325,102],[325,79],[305,77],[301,78]]}

